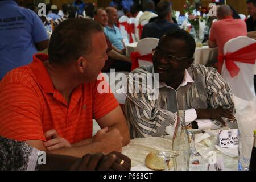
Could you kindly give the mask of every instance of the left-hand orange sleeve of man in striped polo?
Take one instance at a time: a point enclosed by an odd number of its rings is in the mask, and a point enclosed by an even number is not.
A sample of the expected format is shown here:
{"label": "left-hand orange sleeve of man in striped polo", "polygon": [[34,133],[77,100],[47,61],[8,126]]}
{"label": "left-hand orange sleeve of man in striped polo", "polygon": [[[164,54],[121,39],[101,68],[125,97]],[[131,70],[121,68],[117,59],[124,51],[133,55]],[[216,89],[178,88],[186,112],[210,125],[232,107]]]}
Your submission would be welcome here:
{"label": "left-hand orange sleeve of man in striped polo", "polygon": [[9,84],[0,93],[0,135],[18,141],[45,141],[36,93],[23,84]]}

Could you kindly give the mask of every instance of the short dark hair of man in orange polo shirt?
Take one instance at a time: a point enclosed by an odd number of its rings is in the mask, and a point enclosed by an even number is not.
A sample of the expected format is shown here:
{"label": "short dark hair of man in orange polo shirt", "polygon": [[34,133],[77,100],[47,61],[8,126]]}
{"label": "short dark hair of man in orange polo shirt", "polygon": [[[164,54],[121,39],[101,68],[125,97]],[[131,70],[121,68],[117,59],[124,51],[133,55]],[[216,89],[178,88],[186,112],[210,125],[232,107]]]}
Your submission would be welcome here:
{"label": "short dark hair of man in orange polo shirt", "polygon": [[49,63],[69,65],[91,51],[92,35],[103,31],[102,26],[88,18],[70,18],[61,22],[49,43]]}

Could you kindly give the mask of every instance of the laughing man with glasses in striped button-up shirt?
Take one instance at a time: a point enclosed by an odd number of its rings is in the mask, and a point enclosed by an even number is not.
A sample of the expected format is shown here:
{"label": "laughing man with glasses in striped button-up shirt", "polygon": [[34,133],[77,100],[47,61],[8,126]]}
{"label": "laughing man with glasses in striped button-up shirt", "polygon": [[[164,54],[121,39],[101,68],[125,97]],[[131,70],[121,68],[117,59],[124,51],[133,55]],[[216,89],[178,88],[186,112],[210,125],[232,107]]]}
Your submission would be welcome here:
{"label": "laughing man with glasses in striped button-up shirt", "polygon": [[[194,121],[193,128],[201,127],[195,119],[211,119],[209,128],[226,125],[224,118],[234,119],[229,85],[216,69],[192,64],[195,48],[195,40],[187,31],[167,32],[153,52],[154,66],[131,72],[137,75],[129,76],[127,82],[139,90],[126,94],[125,114],[131,138],[163,137],[167,126],[175,126],[179,109],[185,110],[187,124]],[[154,83],[154,73],[159,74],[159,96],[156,86],[154,89],[144,81],[135,82],[142,77]]]}

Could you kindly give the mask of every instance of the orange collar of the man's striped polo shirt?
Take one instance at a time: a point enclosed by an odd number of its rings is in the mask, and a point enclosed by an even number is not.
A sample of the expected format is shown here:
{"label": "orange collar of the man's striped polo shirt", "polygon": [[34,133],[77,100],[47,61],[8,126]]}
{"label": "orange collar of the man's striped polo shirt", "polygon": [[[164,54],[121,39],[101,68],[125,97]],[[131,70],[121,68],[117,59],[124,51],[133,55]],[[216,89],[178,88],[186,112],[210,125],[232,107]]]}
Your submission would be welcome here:
{"label": "orange collar of the man's striped polo shirt", "polygon": [[49,56],[46,54],[36,54],[33,56],[33,61],[30,64],[32,71],[36,77],[36,80],[39,82],[39,85],[42,86],[44,92],[46,93],[54,93],[54,86],[49,76],[49,73],[44,66],[43,62],[47,61]]}

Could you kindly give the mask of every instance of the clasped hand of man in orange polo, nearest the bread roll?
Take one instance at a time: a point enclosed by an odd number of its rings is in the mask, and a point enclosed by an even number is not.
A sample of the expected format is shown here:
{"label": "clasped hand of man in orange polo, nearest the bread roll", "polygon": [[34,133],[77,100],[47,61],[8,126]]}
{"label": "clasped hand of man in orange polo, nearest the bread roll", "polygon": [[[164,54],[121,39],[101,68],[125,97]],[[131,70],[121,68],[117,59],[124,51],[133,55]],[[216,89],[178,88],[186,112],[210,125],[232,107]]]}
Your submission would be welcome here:
{"label": "clasped hand of man in orange polo, nearest the bread roll", "polygon": [[109,131],[108,127],[101,129],[97,132],[94,137],[94,142],[101,143],[102,152],[109,154],[112,151],[122,151],[122,141],[123,137],[121,136],[119,130],[113,129]]}

